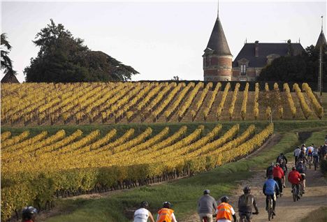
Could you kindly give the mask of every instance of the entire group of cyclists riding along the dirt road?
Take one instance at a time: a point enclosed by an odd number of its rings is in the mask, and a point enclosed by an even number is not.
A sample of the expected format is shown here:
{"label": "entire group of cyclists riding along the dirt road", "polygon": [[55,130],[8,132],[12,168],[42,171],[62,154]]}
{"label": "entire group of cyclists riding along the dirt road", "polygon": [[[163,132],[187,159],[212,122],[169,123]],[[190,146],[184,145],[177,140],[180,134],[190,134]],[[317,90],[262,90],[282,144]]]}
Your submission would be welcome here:
{"label": "entire group of cyclists riding along the dirt road", "polygon": [[[295,165],[287,177],[288,181],[293,187],[296,187],[296,197],[300,199],[299,191],[300,185],[303,186],[303,193],[305,193],[305,172],[307,167],[305,163],[313,158],[313,161],[319,161],[327,158],[327,135],[325,144],[319,148],[312,144],[306,147],[303,144],[301,147],[296,147],[293,152]],[[279,154],[276,163],[271,163],[266,169],[266,182],[263,184],[263,194],[266,195],[266,210],[268,210],[268,200],[273,200],[273,215],[275,216],[275,207],[277,197],[282,197],[283,188],[286,187],[285,177],[287,172],[287,158],[283,153]],[[198,200],[198,216],[202,222],[212,222],[216,217],[217,222],[231,222],[237,221],[233,207],[228,203],[228,196],[224,195],[220,198],[220,204],[217,205],[215,198],[210,195],[210,190],[203,191],[203,195]],[[146,222],[150,220],[154,222],[154,216],[148,210],[149,204],[146,201],[140,203],[140,208],[134,213],[134,222]],[[157,212],[156,222],[177,222],[174,210],[171,209],[170,202],[163,202],[162,208]],[[255,212],[252,212],[254,207]],[[34,207],[25,207],[22,211],[22,221],[35,222],[35,214],[37,210]],[[252,221],[252,214],[259,214],[258,207],[254,195],[251,194],[251,187],[245,186],[243,194],[238,199],[238,214],[240,221]]]}

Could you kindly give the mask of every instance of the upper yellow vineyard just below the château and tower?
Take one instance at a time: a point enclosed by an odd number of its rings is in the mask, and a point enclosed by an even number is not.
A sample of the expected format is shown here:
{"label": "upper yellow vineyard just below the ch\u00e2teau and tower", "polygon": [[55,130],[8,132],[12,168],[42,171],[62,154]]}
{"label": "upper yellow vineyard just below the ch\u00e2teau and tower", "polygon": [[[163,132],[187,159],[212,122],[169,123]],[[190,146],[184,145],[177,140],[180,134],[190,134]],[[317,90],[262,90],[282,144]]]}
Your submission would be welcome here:
{"label": "upper yellow vineyard just below the ch\u00e2teau and tower", "polygon": [[[301,88],[300,88],[301,87]],[[1,84],[1,124],[39,126],[224,120],[321,119],[324,109],[309,85],[277,83],[249,91],[212,82],[108,82]],[[274,112],[259,100],[284,98]],[[283,96],[283,97],[282,97]]]}

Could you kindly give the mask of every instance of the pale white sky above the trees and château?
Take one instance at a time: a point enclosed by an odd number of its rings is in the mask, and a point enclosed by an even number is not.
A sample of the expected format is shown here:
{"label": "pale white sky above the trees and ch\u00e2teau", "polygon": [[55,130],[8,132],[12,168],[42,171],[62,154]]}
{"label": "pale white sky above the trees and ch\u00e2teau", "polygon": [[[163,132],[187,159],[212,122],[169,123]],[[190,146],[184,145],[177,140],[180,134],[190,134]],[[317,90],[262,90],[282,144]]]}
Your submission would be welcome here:
{"label": "pale white sky above the trees and ch\u00e2teau", "polygon": [[[217,1],[1,1],[1,33],[13,47],[9,57],[24,81],[24,68],[39,48],[36,34],[63,24],[74,37],[132,66],[132,80],[203,80],[203,50],[217,18]],[[219,1],[219,18],[233,54],[247,43],[315,45],[325,1]],[[0,77],[3,77],[1,73]]]}

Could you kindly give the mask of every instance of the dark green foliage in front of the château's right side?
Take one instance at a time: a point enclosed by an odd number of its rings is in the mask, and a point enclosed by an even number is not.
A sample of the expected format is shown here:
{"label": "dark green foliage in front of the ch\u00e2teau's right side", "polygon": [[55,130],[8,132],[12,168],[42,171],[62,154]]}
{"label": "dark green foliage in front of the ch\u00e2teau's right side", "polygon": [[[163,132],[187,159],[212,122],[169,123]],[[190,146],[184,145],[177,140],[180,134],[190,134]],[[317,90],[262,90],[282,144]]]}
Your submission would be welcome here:
{"label": "dark green foliage in front of the ch\u00e2teau's right side", "polygon": [[[323,49],[323,63],[327,64],[327,51]],[[319,73],[319,48],[307,47],[295,57],[279,57],[263,68],[259,76],[262,81],[316,82]],[[327,66],[323,66],[323,80],[327,82]]]}

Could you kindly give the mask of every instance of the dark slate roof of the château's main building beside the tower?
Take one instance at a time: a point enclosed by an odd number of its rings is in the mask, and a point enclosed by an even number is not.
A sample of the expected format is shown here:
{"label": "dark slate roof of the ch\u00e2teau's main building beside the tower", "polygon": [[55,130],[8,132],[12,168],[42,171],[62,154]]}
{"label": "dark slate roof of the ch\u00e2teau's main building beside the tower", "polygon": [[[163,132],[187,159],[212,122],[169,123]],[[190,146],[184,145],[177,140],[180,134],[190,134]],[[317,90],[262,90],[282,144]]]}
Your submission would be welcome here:
{"label": "dark slate roof of the ch\u00e2teau's main building beside the tower", "polygon": [[[249,60],[249,67],[263,67],[267,64],[269,54],[279,54],[285,56],[289,51],[289,43],[258,43],[259,57],[255,56],[256,43],[245,43],[238,56],[233,61],[233,67],[238,67],[238,60]],[[293,55],[300,54],[304,49],[300,43],[291,43]]]}

